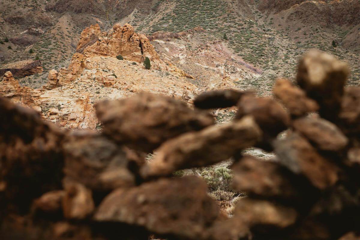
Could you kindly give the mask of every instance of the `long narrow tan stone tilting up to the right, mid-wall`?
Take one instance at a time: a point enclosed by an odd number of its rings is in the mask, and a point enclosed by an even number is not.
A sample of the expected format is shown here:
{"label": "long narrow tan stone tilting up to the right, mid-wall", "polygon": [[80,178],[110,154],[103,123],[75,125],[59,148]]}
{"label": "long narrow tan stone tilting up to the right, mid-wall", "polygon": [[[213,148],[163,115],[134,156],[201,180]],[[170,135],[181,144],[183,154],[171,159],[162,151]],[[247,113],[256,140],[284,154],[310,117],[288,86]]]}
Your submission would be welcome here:
{"label": "long narrow tan stone tilting up to the right, mid-wall", "polygon": [[255,145],[261,135],[251,117],[185,133],[161,145],[154,159],[141,169],[141,174],[144,177],[167,176],[178,169],[221,162]]}

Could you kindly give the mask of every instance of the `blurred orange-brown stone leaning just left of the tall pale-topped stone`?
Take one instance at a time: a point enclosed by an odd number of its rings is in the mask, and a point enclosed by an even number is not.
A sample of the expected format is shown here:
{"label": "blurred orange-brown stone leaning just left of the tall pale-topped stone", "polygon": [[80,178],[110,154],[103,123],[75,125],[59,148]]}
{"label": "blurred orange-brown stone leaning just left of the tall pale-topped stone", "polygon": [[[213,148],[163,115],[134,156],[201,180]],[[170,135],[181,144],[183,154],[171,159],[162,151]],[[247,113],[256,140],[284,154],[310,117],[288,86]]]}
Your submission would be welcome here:
{"label": "blurred orange-brown stone leaning just left of the tall pale-topped stone", "polygon": [[308,98],[299,87],[294,86],[289,80],[278,79],[274,86],[274,95],[289,109],[294,117],[301,117],[309,112],[316,112],[319,105]]}

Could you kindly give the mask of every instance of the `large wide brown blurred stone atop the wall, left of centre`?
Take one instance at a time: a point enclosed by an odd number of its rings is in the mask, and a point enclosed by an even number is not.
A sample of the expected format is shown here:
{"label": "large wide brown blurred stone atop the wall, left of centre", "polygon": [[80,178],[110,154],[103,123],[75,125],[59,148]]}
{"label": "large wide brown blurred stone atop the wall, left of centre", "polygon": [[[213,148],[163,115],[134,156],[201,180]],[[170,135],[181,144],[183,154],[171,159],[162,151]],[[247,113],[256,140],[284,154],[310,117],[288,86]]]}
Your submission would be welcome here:
{"label": "large wide brown blurred stone atop the wall, left of centre", "polygon": [[213,117],[180,100],[150,93],[103,101],[96,113],[105,135],[119,144],[150,152],[168,139],[214,124]]}

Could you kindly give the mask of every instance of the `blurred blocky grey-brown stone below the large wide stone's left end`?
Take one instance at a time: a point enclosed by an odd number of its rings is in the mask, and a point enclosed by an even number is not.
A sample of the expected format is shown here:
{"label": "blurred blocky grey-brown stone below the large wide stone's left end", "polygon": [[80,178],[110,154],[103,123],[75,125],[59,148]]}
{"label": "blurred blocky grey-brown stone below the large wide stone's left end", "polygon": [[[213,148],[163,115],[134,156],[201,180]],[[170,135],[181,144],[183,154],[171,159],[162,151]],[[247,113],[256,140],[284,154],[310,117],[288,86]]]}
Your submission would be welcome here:
{"label": "blurred blocky grey-brown stone below the large wide stone's left end", "polygon": [[92,131],[74,132],[63,148],[67,180],[102,192],[135,185],[125,152],[107,138]]}

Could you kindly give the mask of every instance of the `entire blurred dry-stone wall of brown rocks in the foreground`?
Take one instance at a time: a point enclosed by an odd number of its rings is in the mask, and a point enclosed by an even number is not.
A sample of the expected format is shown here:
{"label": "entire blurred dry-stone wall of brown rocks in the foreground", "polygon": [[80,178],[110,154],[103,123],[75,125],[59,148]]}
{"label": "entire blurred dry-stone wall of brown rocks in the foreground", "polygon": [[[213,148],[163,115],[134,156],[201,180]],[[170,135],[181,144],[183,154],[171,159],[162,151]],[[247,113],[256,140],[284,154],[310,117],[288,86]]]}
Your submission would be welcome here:
{"label": "entire blurred dry-stone wall of brown rocks in the foreground", "polygon": [[[312,51],[300,87],[276,82],[282,104],[225,90],[199,96],[193,110],[144,93],[97,104],[102,133],[60,130],[0,98],[1,239],[359,239],[360,88],[344,87],[347,74]],[[200,110],[231,105],[236,118],[220,126]],[[243,156],[251,146],[276,157]],[[230,157],[231,171],[202,172],[218,195],[230,181],[246,193],[229,218],[201,176],[174,172]]]}

